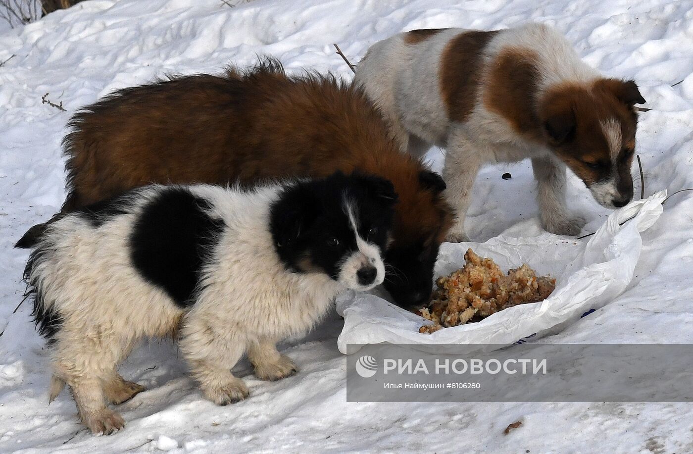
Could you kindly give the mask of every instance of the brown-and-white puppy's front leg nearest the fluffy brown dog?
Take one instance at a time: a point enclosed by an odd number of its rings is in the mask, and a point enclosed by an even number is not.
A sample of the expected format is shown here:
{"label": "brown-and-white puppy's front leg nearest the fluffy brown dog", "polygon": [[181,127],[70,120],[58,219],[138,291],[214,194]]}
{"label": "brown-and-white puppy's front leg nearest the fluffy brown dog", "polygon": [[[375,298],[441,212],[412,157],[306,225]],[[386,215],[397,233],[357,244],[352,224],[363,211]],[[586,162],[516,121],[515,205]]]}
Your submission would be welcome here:
{"label": "brown-and-white puppy's front leg nearest the fluffy brown dog", "polygon": [[484,163],[484,154],[480,146],[468,139],[466,133],[455,129],[448,139],[443,180],[448,186],[445,196],[455,210],[455,225],[448,232],[447,241],[458,243],[469,241],[464,229],[464,219],[471,202],[471,192],[479,169]]}

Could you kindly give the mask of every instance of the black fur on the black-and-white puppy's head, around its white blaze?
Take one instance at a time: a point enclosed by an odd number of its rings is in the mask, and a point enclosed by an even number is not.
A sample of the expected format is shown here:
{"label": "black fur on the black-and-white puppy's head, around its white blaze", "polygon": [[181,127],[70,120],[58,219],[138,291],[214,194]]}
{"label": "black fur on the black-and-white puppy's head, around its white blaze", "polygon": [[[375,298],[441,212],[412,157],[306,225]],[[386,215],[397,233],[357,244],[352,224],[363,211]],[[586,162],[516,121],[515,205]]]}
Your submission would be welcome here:
{"label": "black fur on the black-and-white puppy's head, around its white blaze", "polygon": [[392,183],[371,175],[347,177],[337,172],[323,180],[297,182],[272,204],[270,230],[286,268],[322,270],[337,279],[340,263],[358,250],[344,211],[345,197],[358,210],[358,234],[385,250],[397,200]]}

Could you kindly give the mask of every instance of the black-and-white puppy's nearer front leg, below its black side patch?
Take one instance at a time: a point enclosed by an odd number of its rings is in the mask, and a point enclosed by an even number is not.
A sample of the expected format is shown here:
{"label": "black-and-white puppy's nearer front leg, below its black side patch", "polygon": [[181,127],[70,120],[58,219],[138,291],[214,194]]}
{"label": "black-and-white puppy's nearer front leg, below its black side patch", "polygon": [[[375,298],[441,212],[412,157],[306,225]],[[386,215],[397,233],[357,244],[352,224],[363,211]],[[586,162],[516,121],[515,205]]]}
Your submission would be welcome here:
{"label": "black-and-white puppy's nearer front leg, below its black side patch", "polygon": [[191,315],[184,321],[179,345],[193,378],[204,396],[217,405],[242,401],[249,394],[248,387],[231,374],[231,368],[245,353],[245,338],[230,328],[215,330],[213,322]]}

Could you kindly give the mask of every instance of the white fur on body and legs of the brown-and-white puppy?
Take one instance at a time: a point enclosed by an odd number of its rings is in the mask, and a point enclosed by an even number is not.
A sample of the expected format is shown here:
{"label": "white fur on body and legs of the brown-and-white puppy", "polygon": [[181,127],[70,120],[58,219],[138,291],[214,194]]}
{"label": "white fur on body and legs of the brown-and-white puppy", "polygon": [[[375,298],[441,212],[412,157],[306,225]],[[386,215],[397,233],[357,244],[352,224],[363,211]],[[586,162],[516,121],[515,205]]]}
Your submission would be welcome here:
{"label": "white fur on body and legs of the brown-and-white puppy", "polygon": [[[505,118],[486,109],[483,83],[477,91],[475,109],[465,123],[448,119],[439,89],[441,55],[453,37],[466,31],[442,30],[416,44],[407,44],[405,33],[378,42],[358,64],[354,82],[380,107],[402,150],[421,156],[433,144],[447,148],[443,172],[448,185],[446,197],[457,212],[457,223],[448,240],[467,239],[464,218],[479,169],[487,163],[526,158],[532,158],[545,229],[556,234],[577,234],[584,220],[565,209],[565,164],[547,147],[525,141]],[[548,26],[527,24],[502,30],[486,46],[485,64],[491,64],[498,53],[510,48],[529,49],[538,55],[540,91],[560,82],[588,83],[599,78],[568,41]],[[480,80],[485,79],[482,71]]]}

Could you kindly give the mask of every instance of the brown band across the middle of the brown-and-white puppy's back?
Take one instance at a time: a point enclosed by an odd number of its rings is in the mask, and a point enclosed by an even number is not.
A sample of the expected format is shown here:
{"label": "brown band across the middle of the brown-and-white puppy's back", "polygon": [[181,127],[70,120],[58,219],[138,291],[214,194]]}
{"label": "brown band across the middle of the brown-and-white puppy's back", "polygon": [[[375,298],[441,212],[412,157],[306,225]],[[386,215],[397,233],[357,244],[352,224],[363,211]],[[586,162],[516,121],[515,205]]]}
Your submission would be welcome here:
{"label": "brown band across the middle of the brown-and-white puppy's back", "polygon": [[497,31],[468,31],[454,37],[441,56],[440,87],[451,121],[464,122],[474,110],[483,55]]}

